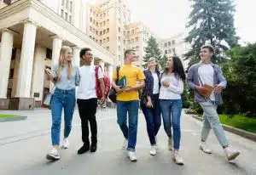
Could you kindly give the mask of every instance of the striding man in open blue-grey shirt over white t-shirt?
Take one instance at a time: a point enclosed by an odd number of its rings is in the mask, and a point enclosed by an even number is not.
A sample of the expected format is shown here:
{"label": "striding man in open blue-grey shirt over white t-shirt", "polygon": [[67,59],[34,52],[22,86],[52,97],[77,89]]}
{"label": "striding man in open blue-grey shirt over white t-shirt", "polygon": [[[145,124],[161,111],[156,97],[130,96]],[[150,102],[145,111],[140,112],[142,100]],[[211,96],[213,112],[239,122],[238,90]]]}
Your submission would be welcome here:
{"label": "striding man in open blue-grey shirt over white t-shirt", "polygon": [[[195,101],[201,105],[204,111],[200,149],[207,154],[212,153],[212,150],[206,144],[208,135],[212,129],[218,138],[219,144],[223,147],[228,161],[232,161],[240,152],[230,148],[229,140],[226,138],[224,129],[218,118],[217,108],[218,105],[223,104],[221,93],[226,88],[227,82],[221,68],[218,65],[212,64],[211,59],[213,53],[214,48],[211,45],[201,47],[201,62],[189,68],[187,82],[189,87],[194,89]],[[204,88],[204,85],[213,88],[208,99],[203,97],[207,96],[207,88]]]}

